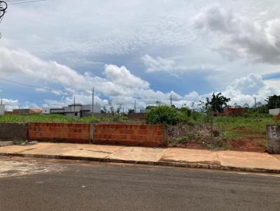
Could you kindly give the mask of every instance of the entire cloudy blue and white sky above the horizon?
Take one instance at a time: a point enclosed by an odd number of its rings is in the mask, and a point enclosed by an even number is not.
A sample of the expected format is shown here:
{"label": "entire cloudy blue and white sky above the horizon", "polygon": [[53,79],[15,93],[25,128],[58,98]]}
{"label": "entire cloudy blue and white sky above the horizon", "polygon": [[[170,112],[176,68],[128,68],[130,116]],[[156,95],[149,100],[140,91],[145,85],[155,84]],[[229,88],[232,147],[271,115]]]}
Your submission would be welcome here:
{"label": "entire cloudy blue and white sky above the horizon", "polygon": [[280,94],[279,0],[6,1],[8,110],[66,106],[73,96],[90,104],[92,87],[95,103],[126,109],[171,95],[191,106],[222,92],[243,106]]}

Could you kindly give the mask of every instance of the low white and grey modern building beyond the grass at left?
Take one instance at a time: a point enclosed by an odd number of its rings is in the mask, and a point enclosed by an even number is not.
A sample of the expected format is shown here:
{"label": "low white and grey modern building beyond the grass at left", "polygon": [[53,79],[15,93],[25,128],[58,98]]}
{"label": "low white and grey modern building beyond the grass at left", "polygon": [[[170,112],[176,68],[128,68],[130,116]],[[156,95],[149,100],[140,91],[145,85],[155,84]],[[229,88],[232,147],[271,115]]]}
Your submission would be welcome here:
{"label": "low white and grey modern building beyond the grass at left", "polygon": [[[43,108],[43,114],[61,114],[67,117],[86,117],[92,114],[92,105],[71,104],[62,108]],[[93,106],[93,113],[101,113],[101,106]]]}

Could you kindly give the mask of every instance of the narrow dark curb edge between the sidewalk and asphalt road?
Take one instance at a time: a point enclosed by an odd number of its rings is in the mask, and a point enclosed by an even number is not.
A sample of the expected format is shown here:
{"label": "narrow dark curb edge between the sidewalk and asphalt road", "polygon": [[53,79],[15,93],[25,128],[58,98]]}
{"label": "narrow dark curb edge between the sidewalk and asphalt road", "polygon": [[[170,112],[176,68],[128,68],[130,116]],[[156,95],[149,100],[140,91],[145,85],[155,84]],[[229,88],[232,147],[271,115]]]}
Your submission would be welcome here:
{"label": "narrow dark curb edge between the sidewalk and asphalt road", "polygon": [[233,170],[233,171],[244,171],[251,173],[274,173],[280,174],[280,170],[267,169],[267,168],[244,168],[235,166],[223,166],[214,164],[202,164],[202,163],[179,163],[179,162],[168,162],[168,161],[132,161],[132,160],[121,160],[121,159],[107,159],[107,158],[94,158],[94,157],[76,157],[66,155],[45,155],[45,154],[19,154],[19,153],[0,153],[0,156],[6,157],[35,157],[43,159],[68,159],[78,161],[97,161],[97,162],[108,162],[108,163],[133,163],[150,166],[175,166],[185,168],[207,168],[213,170]]}

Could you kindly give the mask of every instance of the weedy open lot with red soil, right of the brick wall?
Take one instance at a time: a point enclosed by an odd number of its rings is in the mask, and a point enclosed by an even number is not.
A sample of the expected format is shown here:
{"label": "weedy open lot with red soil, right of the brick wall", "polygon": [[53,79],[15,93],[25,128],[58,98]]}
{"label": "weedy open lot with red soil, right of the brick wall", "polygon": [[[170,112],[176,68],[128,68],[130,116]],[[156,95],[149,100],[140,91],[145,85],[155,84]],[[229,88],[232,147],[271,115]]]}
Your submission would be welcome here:
{"label": "weedy open lot with red soil, right of the brick wall", "polygon": [[195,149],[266,151],[266,125],[280,124],[270,115],[213,117],[169,129],[169,145]]}

